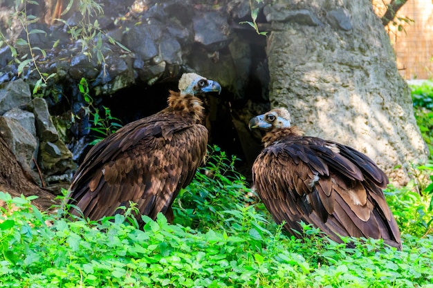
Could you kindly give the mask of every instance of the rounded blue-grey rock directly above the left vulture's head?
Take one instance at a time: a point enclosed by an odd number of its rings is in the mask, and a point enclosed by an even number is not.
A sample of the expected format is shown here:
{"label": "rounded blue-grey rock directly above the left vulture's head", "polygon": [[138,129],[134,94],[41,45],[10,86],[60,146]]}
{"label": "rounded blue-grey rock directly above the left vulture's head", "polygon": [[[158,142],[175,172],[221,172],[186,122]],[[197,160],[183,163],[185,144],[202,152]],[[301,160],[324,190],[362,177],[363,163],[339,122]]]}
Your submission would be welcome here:
{"label": "rounded blue-grey rock directly above the left vulture's head", "polygon": [[230,43],[232,30],[227,23],[227,17],[223,17],[220,12],[197,14],[192,21],[194,41],[207,50],[219,50]]}

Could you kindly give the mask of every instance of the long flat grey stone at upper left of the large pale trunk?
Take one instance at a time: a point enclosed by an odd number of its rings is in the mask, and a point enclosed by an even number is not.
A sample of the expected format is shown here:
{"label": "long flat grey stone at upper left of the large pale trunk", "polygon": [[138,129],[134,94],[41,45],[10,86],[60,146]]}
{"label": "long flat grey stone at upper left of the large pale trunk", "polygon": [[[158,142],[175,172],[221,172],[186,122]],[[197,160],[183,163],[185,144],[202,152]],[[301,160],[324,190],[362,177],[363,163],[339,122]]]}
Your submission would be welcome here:
{"label": "long flat grey stone at upper left of the large pale trunk", "polygon": [[322,21],[310,10],[291,10],[286,4],[277,3],[272,6],[265,6],[263,12],[268,22],[295,22],[306,26],[323,26]]}

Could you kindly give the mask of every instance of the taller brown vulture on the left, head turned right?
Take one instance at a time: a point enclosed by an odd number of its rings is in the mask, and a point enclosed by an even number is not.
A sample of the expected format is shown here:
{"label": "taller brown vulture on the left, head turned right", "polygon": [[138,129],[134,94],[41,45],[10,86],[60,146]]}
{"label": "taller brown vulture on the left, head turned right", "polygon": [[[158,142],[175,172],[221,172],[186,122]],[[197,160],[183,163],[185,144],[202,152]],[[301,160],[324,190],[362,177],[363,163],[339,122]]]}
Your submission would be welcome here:
{"label": "taller brown vulture on the left, head turned right", "polygon": [[[183,74],[180,92],[169,91],[168,107],[131,122],[91,149],[75,173],[68,204],[85,218],[99,220],[135,202],[141,215],[163,213],[173,220],[172,203],[203,162],[208,129],[195,95],[221,92],[221,86],[195,73]],[[71,213],[80,215],[75,209]],[[140,226],[143,222],[137,215]]]}

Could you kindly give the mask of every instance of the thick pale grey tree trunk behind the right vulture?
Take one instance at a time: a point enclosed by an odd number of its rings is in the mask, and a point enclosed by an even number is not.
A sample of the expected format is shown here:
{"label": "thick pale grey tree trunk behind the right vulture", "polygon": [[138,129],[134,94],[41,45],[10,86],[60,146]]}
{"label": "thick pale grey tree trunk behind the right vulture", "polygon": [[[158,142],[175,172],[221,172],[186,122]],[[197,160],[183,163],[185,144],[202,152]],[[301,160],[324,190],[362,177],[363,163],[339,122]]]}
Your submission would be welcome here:
{"label": "thick pale grey tree trunk behind the right vulture", "polygon": [[427,146],[371,1],[288,0],[265,15],[271,106],[286,106],[306,135],[353,146],[407,183]]}

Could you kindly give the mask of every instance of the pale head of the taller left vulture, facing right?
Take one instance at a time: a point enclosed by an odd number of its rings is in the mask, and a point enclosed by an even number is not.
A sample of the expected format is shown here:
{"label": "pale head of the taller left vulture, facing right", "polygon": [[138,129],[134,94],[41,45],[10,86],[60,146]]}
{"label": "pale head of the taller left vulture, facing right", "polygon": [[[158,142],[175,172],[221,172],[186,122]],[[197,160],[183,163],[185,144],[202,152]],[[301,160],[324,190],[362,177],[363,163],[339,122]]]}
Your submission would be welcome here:
{"label": "pale head of the taller left vulture, facing right", "polygon": [[221,93],[221,86],[218,82],[208,80],[196,73],[184,73],[178,85],[181,95],[197,95],[209,92]]}

